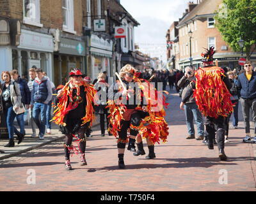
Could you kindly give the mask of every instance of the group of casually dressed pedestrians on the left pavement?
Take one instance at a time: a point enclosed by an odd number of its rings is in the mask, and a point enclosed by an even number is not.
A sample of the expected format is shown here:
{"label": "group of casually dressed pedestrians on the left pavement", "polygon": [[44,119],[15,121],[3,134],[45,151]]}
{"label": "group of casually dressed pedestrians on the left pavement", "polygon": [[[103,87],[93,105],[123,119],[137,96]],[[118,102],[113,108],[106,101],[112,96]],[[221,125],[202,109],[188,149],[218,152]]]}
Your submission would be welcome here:
{"label": "group of casually dressed pedestrians on the left pavement", "polygon": [[[45,129],[51,134],[51,107],[54,84],[42,69],[29,69],[29,81],[20,78],[19,71],[3,71],[1,78],[1,115],[2,124],[8,129],[9,142],[4,147],[14,147],[14,134],[17,135],[18,144],[22,142],[25,131],[25,112],[30,115],[29,123],[32,128],[32,138],[36,138],[36,126],[39,129],[38,138],[44,140]],[[20,131],[14,126],[17,120]]]}

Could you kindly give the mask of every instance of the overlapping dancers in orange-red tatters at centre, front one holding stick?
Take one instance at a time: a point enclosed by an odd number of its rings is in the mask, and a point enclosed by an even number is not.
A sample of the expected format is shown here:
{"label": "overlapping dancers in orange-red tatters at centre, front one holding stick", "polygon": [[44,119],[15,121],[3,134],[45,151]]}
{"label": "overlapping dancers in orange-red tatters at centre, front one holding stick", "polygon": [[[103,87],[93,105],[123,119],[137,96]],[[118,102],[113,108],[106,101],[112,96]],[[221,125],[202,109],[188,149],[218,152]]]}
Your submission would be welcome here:
{"label": "overlapping dancers in orange-red tatters at centre, front one holding stick", "polygon": [[[128,130],[131,138],[136,136],[149,138],[152,141],[151,146],[159,142],[159,139],[166,141],[168,124],[163,119],[163,105],[167,104],[163,97],[159,100],[162,102],[161,109],[157,107],[157,103],[150,102],[155,96],[154,85],[138,78],[139,73],[130,64],[125,65],[117,76],[119,79],[109,88],[109,131],[118,138],[118,167],[125,168],[124,151],[125,143],[128,142]],[[149,94],[150,90],[154,96]],[[153,99],[151,100],[150,97]],[[135,153],[143,155],[142,142],[137,143],[137,146],[138,151]],[[154,157],[154,148],[151,149],[150,156],[152,156],[150,159]]]}

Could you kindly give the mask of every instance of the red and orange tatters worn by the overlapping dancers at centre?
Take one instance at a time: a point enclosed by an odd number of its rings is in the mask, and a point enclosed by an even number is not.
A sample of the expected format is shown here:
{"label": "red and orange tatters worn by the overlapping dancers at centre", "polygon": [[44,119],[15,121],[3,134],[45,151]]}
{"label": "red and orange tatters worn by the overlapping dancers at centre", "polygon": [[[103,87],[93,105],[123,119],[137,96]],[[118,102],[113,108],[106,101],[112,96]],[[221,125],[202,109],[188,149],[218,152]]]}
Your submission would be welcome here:
{"label": "red and orange tatters worn by the overlapping dancers at centre", "polygon": [[[160,140],[166,142],[168,136],[168,124],[164,119],[164,107],[167,107],[168,103],[165,102],[165,96],[161,92],[158,92],[154,88],[154,85],[150,84],[147,80],[134,76],[133,82],[137,83],[138,87],[141,89],[141,97],[148,101],[148,105],[145,105],[147,107],[148,116],[141,119],[140,126],[133,126],[130,124],[130,128],[137,130],[143,138],[149,138],[153,143],[159,143]],[[120,91],[122,91],[121,86]],[[168,92],[166,93],[168,94]],[[143,111],[141,106],[137,106],[135,110],[132,110],[130,113],[125,105],[122,103],[116,105],[115,101],[112,100],[108,101],[108,104],[110,110],[109,131],[115,137],[118,137],[118,131],[121,129],[121,120],[129,119],[129,116],[136,111]],[[118,142],[120,142],[120,140],[122,139],[119,138]]]}

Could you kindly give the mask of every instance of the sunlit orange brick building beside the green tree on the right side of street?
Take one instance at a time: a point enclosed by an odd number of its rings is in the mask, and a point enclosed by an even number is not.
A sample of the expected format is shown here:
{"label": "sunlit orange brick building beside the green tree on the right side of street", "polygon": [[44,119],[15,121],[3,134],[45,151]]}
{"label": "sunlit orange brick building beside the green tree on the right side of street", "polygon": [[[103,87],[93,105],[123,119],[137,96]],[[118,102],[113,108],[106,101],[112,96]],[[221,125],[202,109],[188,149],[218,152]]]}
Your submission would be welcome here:
{"label": "sunlit orange brick building beside the green tree on the right side of street", "polygon": [[[192,64],[195,68],[201,66],[201,53],[204,48],[214,46],[216,54],[214,59],[218,59],[218,66],[227,66],[231,69],[241,68],[238,60],[241,52],[234,52],[226,43],[215,26],[214,15],[218,10],[222,0],[203,0],[194,4],[189,2],[188,9],[176,26],[179,29],[179,67],[180,69],[190,65],[190,47]],[[189,31],[191,43],[189,43]],[[255,57],[252,55],[252,62],[256,65]]]}

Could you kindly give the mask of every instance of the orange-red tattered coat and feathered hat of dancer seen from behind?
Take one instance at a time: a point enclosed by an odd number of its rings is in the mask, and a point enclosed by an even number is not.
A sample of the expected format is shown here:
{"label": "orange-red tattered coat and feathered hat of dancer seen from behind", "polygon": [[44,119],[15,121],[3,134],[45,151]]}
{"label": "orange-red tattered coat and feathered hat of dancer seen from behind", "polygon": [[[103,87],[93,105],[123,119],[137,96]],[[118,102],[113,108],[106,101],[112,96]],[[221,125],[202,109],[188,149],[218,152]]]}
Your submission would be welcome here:
{"label": "orange-red tattered coat and feathered hat of dancer seen from behind", "polygon": [[[204,63],[211,63],[210,57],[214,54],[214,48],[207,50]],[[233,112],[232,102],[230,100],[230,92],[223,82],[225,71],[217,66],[206,66],[199,68],[195,72],[196,84],[194,97],[196,105],[204,116],[217,118],[219,116],[227,117]]]}

